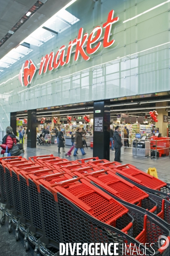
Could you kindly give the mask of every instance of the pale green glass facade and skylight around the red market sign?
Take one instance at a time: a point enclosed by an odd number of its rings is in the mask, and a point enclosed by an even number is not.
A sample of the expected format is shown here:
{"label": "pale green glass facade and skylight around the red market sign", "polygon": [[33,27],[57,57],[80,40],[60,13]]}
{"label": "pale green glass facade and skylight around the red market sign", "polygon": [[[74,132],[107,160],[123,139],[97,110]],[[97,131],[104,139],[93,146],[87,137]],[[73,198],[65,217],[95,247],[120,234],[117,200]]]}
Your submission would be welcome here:
{"label": "pale green glass facade and skylight around the red market sign", "polygon": [[169,8],[77,0],[57,12],[0,60],[0,130],[17,111],[169,91]]}

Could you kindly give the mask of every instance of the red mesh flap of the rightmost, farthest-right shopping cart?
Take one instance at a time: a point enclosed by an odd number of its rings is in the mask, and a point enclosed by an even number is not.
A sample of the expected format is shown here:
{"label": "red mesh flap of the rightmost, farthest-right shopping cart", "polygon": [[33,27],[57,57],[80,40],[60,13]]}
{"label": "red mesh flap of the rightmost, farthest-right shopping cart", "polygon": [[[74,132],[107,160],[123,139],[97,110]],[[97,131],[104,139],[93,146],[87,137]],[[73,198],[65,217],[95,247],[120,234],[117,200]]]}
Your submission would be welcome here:
{"label": "red mesh flap of the rightmost, farthest-right shopping cart", "polygon": [[120,172],[122,175],[130,178],[131,180],[135,181],[136,183],[141,184],[142,186],[146,186],[150,189],[160,190],[161,187],[167,185],[167,183],[163,182],[162,180],[157,179],[141,170],[137,169],[135,166],[130,164],[120,165],[120,166],[113,166],[109,167],[114,172]]}

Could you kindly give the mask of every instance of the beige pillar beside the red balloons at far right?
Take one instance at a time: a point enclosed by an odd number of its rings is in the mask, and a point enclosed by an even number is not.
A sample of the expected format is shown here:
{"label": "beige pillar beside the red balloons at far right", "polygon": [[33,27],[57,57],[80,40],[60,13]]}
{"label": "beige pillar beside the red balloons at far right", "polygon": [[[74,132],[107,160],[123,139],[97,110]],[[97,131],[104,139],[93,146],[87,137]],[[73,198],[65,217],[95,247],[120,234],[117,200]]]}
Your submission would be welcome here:
{"label": "beige pillar beside the red balloons at far right", "polygon": [[157,102],[156,107],[162,107],[164,106],[165,108],[156,108],[157,113],[159,114],[158,116],[158,122],[156,123],[156,127],[159,128],[159,132],[162,134],[163,137],[167,136],[167,122],[163,122],[163,116],[167,116],[168,112],[165,111],[167,107],[167,102]]}

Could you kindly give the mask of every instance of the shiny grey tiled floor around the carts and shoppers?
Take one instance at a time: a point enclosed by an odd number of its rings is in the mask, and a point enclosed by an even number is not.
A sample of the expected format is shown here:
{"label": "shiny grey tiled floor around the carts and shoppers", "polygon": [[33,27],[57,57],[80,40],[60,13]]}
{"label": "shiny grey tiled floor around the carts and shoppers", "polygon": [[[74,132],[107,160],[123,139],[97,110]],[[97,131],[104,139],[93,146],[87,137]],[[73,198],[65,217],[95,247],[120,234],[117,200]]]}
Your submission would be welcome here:
{"label": "shiny grey tiled floor around the carts and shoppers", "polygon": [[[57,145],[52,144],[51,146],[43,146],[37,145],[37,148],[27,148],[26,142],[24,145],[25,153],[22,154],[23,157],[31,157],[36,155],[46,155],[46,154],[54,154],[54,156],[59,156],[61,158],[65,158],[65,153],[58,154]],[[65,147],[65,151],[67,152],[70,149],[70,146]],[[62,151],[62,149],[61,149]],[[93,150],[88,148],[85,152],[87,153],[84,157],[82,157],[81,151],[78,150],[78,156],[74,157],[73,154],[68,157],[69,160],[76,160],[80,158],[87,158],[93,156]],[[72,152],[73,153],[73,152]],[[110,151],[110,160],[114,160],[114,151]],[[170,158],[169,157],[161,157],[158,160],[151,160],[147,157],[133,157],[132,149],[127,148],[124,150],[124,154],[121,156],[121,160],[123,163],[130,163],[137,168],[141,169],[144,172],[147,172],[148,168],[156,167],[158,177],[165,182],[170,183]],[[1,213],[2,215],[2,213]],[[12,233],[8,233],[8,222],[2,227],[0,227],[0,256],[34,256],[34,251],[29,246],[28,253],[25,252],[23,246],[23,238],[20,241],[15,241],[15,233],[14,228]]]}

